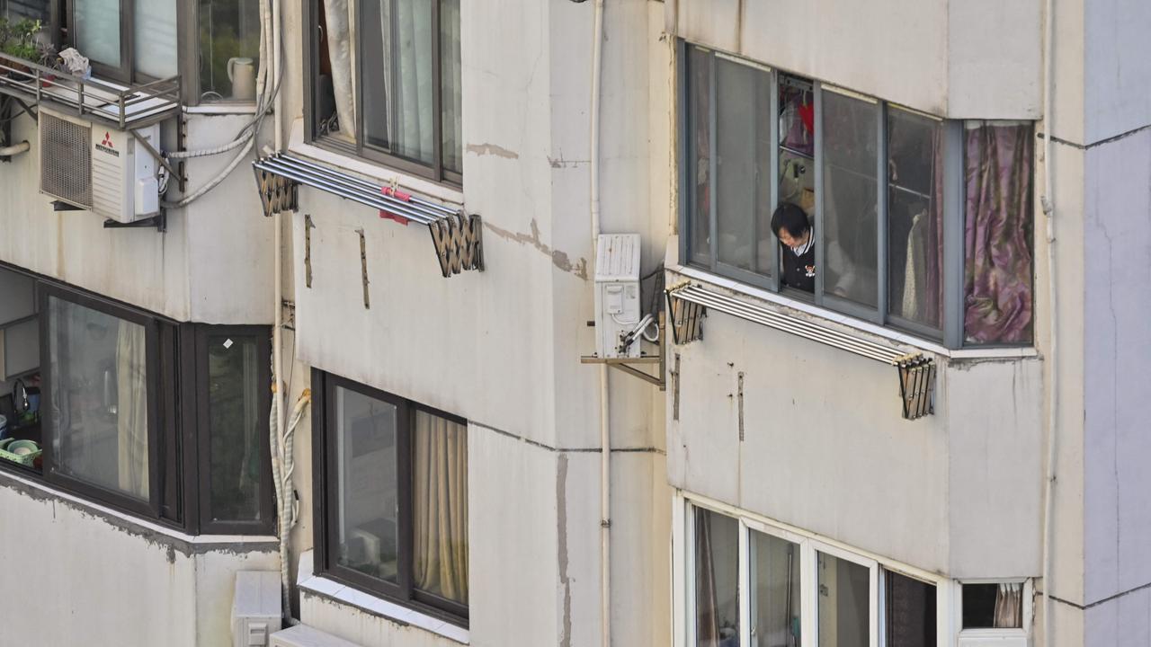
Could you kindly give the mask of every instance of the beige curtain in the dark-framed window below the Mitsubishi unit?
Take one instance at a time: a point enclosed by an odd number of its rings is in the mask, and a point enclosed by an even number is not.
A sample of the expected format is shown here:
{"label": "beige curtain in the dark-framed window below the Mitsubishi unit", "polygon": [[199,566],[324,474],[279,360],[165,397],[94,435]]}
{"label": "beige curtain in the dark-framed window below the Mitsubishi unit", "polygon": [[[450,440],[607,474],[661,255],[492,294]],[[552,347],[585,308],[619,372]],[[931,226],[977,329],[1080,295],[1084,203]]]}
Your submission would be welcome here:
{"label": "beige curtain in the dark-framed window below the Mitsubishi unit", "polygon": [[116,340],[116,429],[120,489],[148,497],[147,482],[147,352],[144,327],[120,322]]}

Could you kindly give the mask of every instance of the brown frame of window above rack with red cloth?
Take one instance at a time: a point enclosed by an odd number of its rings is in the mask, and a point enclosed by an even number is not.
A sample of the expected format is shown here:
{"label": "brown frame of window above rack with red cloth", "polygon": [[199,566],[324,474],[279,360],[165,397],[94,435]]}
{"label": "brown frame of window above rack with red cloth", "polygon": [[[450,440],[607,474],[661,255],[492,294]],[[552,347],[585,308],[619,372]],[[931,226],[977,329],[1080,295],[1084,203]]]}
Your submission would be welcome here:
{"label": "brown frame of window above rack with red cloth", "polygon": [[[304,51],[304,82],[307,89],[304,92],[304,138],[307,143],[314,144],[322,149],[329,151],[351,155],[367,160],[373,163],[379,163],[388,168],[392,168],[401,173],[420,177],[424,180],[429,180],[432,182],[437,182],[440,184],[445,184],[453,189],[459,189],[464,185],[464,174],[463,172],[448,170],[443,163],[443,68],[442,68],[442,51],[443,41],[441,39],[443,31],[441,29],[440,16],[441,16],[441,2],[440,0],[433,0],[432,2],[432,31],[434,33],[435,45],[432,48],[432,109],[433,109],[433,139],[435,153],[433,157],[433,162],[430,165],[425,165],[401,155],[396,155],[384,151],[382,147],[369,145],[364,138],[364,93],[356,92],[352,97],[356,105],[356,142],[355,144],[334,136],[321,136],[317,134],[315,122],[317,122],[317,106],[320,105],[320,1],[321,0],[303,0],[303,16],[304,24],[311,25],[305,26],[303,32],[303,51]],[[360,12],[360,5],[358,0],[352,3],[355,10],[355,22],[357,33],[363,33],[360,29],[363,26],[361,17],[363,12]],[[390,1],[390,0],[382,0]],[[356,87],[364,87],[364,56],[359,55],[360,43],[353,43],[355,50],[355,61],[356,69],[352,74],[356,76]],[[463,101],[460,102],[460,114],[463,114]],[[463,147],[463,142],[460,142],[460,147]]]}

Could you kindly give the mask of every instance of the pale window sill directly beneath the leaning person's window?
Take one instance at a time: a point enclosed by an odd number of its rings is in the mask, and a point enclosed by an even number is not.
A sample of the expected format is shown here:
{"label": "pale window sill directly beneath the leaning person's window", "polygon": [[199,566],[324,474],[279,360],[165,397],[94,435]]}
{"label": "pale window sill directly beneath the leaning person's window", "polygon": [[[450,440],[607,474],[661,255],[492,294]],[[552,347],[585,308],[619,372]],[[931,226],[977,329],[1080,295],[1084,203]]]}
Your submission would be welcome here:
{"label": "pale window sill directly beneath the leaning person's window", "polygon": [[[670,246],[671,244],[669,244]],[[698,269],[695,267],[686,267],[678,264],[668,264],[668,272],[672,274],[678,274],[685,279],[692,279],[700,281],[711,287],[722,288],[734,296],[747,297],[756,299],[760,302],[765,302],[771,305],[782,306],[792,311],[796,311],[807,315],[809,318],[818,319],[821,322],[832,322],[838,324],[840,327],[846,328],[848,333],[856,333],[859,336],[870,336],[879,337],[887,342],[893,342],[899,345],[909,347],[924,352],[931,352],[943,357],[948,357],[952,359],[994,359],[994,358],[1026,358],[1036,357],[1038,352],[1034,347],[1027,348],[971,348],[971,349],[948,349],[943,345],[914,337],[912,335],[900,333],[898,330],[892,330],[890,328],[884,328],[883,326],[877,326],[868,321],[861,321],[853,317],[846,314],[840,314],[826,309],[818,307],[810,303],[806,303],[799,299],[794,299],[784,295],[771,292],[768,290],[761,290],[759,288],[753,288],[739,281],[732,279],[726,279],[723,276],[717,276],[709,272]]]}

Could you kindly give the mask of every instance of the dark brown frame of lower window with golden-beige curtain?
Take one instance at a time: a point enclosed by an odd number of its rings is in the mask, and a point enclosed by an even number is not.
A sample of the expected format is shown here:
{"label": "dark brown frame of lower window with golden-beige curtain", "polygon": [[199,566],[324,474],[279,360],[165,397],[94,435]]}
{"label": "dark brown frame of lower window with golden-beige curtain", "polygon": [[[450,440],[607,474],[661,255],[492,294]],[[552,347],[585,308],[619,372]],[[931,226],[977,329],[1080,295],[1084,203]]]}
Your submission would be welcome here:
{"label": "dark brown frame of lower window with golden-beige curtain", "polygon": [[[338,550],[338,524],[336,498],[338,486],[336,474],[338,420],[336,419],[336,389],[342,388],[396,408],[396,490],[397,490],[397,550],[396,583],[368,576],[341,565]],[[315,547],[318,572],[365,593],[384,597],[421,614],[426,614],[453,625],[468,626],[468,604],[445,600],[416,588],[413,581],[414,547],[413,531],[413,481],[416,412],[422,411],[467,428],[467,420],[459,416],[410,401],[367,385],[312,368],[312,494],[313,494],[313,545]]]}

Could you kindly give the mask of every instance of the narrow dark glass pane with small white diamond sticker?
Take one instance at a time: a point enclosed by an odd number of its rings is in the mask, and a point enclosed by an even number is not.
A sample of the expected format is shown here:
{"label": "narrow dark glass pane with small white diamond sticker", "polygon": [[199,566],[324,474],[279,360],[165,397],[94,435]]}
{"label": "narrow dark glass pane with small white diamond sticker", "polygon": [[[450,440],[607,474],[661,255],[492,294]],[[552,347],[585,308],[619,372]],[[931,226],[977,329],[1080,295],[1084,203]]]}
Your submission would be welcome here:
{"label": "narrow dark glass pane with small white diamond sticker", "polygon": [[261,424],[259,341],[208,335],[208,433],[214,520],[260,518]]}

